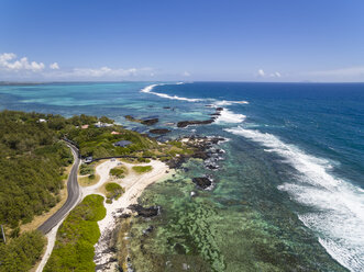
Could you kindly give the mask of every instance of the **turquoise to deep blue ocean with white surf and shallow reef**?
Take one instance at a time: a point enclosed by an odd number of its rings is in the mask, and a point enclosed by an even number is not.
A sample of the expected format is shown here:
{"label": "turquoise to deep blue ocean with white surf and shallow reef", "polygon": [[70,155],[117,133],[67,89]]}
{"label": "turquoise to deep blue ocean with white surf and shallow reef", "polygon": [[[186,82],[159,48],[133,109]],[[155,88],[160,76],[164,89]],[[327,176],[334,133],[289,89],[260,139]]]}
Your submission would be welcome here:
{"label": "turquoise to deep blue ocean with white surf and shallow reef", "polygon": [[[170,126],[207,120],[218,106],[210,125]],[[0,86],[4,109],[106,115],[141,133],[150,127],[124,115],[158,117],[155,128],[172,129],[161,140],[229,139],[218,170],[190,160],[142,195],[162,214],[133,224],[136,271],[364,271],[363,83]],[[213,190],[195,188],[191,178],[201,174],[213,177]]]}

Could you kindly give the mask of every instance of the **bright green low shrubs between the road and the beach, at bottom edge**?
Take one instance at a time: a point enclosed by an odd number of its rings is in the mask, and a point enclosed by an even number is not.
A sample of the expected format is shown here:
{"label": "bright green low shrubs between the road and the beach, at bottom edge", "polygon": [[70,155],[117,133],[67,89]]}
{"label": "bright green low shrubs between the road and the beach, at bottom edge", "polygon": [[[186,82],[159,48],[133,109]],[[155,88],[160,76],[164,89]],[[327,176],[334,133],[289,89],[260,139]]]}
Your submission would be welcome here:
{"label": "bright green low shrubs between the road and the beach, at bottom edge", "polygon": [[88,195],[59,227],[45,272],[95,271],[93,245],[100,237],[98,220],[106,216],[103,197]]}

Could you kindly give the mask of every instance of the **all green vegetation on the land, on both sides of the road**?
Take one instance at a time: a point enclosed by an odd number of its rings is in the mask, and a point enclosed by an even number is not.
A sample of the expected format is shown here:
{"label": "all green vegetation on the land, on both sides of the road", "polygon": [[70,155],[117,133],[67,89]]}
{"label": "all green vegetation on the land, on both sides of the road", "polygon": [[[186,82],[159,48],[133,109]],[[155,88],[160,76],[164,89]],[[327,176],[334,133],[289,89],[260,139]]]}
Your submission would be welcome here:
{"label": "all green vegetation on the land, on both sides of the road", "polygon": [[[98,122],[101,127],[95,126]],[[148,162],[142,156],[167,160],[176,154],[190,151],[178,144],[158,145],[153,138],[114,125],[106,116],[98,118],[81,114],[65,118],[53,114],[0,112],[0,224],[8,230],[8,243],[0,241],[0,272],[27,271],[41,256],[42,235],[21,234],[19,226],[59,201],[59,190],[66,179],[65,167],[73,162],[69,148],[60,140],[63,138],[74,141],[84,157],[132,155],[139,157],[136,161]],[[113,146],[119,140],[132,144]],[[89,180],[97,179],[91,167],[81,167],[80,171]],[[121,188],[109,186],[110,201],[123,192]],[[97,220],[103,216],[102,196],[86,197],[63,224],[45,271],[95,270],[93,243],[99,237]]]}

